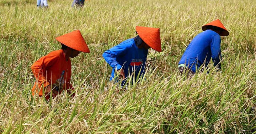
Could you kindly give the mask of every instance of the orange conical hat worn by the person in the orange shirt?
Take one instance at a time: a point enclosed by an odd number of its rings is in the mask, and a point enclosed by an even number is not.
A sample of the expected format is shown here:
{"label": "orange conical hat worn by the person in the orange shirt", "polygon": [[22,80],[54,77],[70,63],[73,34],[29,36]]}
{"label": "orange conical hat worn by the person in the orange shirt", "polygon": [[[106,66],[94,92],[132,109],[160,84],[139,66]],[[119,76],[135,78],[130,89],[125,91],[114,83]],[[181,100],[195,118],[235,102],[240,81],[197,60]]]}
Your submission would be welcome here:
{"label": "orange conical hat worn by the person in the orange shirt", "polygon": [[72,49],[78,50],[80,52],[90,53],[90,50],[79,30],[64,34],[62,36],[56,37],[55,39]]}

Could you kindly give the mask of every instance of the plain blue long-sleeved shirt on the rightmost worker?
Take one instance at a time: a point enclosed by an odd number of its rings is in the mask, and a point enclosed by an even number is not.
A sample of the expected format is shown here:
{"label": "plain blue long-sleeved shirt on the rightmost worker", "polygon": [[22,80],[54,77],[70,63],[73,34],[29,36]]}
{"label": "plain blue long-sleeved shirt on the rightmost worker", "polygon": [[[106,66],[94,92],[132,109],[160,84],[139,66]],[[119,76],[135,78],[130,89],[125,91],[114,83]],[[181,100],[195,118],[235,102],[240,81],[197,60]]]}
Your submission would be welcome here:
{"label": "plain blue long-sleeved shirt on the rightmost worker", "polygon": [[190,42],[178,64],[185,64],[190,70],[196,72],[204,61],[207,67],[212,58],[214,66],[218,65],[220,69],[220,42],[219,34],[212,30],[199,33]]}

